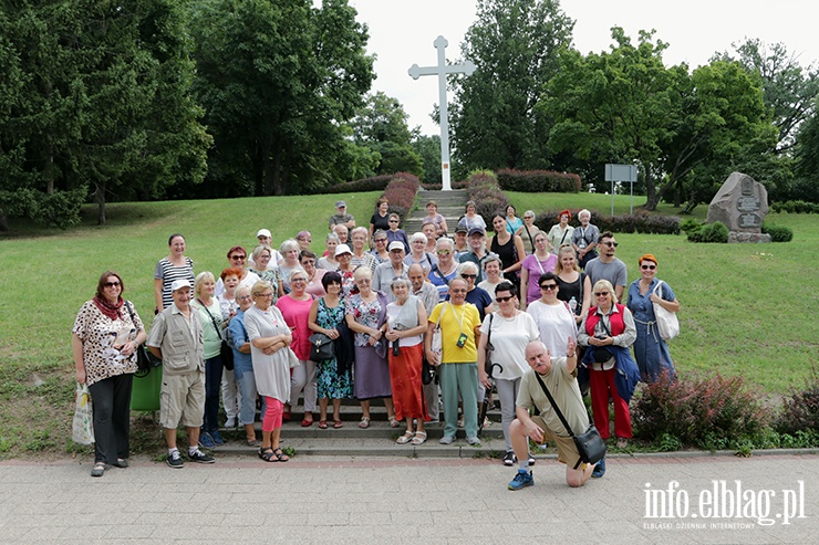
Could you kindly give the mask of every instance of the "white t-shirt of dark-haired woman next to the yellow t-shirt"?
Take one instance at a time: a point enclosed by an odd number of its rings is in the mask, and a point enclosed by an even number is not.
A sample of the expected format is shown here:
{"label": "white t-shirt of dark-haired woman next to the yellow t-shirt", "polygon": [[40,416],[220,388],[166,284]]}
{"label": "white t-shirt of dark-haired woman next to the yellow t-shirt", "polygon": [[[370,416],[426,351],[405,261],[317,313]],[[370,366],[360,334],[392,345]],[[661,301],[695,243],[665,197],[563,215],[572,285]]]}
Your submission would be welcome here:
{"label": "white t-shirt of dark-haired woman next to the yellow t-shirt", "polygon": [[480,334],[489,333],[489,322],[491,321],[491,337],[489,343],[495,350],[487,357],[491,363],[500,364],[504,367],[495,367],[493,377],[506,380],[515,380],[523,376],[529,368],[526,363],[526,345],[538,339],[538,326],[530,315],[525,312],[517,314],[512,318],[505,318],[499,312],[488,314],[480,325]]}

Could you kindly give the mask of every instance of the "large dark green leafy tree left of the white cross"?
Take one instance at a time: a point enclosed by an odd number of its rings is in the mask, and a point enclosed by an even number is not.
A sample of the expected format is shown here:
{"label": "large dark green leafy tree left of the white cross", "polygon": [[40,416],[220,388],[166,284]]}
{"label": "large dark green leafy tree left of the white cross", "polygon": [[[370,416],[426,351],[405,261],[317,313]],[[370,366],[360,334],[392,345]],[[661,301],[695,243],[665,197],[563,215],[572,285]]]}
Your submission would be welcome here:
{"label": "large dark green leafy tree left of the white cross", "polygon": [[[373,80],[366,27],[346,0],[196,0],[196,88],[216,186],[282,195],[325,184]],[[229,189],[232,190],[232,189]]]}

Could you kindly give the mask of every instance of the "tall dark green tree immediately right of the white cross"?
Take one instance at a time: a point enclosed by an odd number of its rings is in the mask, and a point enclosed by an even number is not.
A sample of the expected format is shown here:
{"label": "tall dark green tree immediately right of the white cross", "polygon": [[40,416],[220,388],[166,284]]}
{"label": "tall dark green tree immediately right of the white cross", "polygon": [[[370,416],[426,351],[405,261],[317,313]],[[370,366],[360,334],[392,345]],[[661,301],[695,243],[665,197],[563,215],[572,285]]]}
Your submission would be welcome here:
{"label": "tall dark green tree immediately right of the white cross", "polygon": [[479,0],[462,45],[477,70],[455,78],[450,108],[458,161],[470,168],[547,167],[535,105],[571,45],[574,22],[558,0]]}

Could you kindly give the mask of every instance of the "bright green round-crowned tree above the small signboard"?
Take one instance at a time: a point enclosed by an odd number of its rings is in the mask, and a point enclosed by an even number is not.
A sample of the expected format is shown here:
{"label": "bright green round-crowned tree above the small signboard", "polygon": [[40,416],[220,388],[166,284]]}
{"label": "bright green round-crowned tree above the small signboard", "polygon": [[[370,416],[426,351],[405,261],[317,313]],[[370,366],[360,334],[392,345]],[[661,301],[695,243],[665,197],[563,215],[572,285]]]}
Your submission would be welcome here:
{"label": "bright green round-crowned tree above the small signboard", "polygon": [[634,45],[623,29],[614,27],[611,51],[588,56],[566,51],[559,74],[538,104],[538,112],[551,119],[550,151],[574,154],[597,165],[637,163],[649,210],[660,199],[663,149],[678,123],[678,82],[687,77],[685,65],[665,67],[662,55],[667,44],[654,42],[653,35],[641,31]]}

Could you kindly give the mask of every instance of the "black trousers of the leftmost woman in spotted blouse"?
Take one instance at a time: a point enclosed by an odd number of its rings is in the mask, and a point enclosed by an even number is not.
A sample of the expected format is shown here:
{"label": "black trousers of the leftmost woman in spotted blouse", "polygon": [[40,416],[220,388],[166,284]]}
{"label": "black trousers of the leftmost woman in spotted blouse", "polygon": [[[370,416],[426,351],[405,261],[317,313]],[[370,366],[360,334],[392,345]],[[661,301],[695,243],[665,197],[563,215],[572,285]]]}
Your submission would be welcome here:
{"label": "black trousers of the leftmost woman in spotted blouse", "polygon": [[134,375],[116,375],[89,386],[94,407],[94,461],[114,463],[131,454],[131,389]]}

